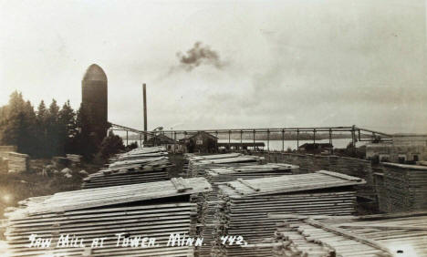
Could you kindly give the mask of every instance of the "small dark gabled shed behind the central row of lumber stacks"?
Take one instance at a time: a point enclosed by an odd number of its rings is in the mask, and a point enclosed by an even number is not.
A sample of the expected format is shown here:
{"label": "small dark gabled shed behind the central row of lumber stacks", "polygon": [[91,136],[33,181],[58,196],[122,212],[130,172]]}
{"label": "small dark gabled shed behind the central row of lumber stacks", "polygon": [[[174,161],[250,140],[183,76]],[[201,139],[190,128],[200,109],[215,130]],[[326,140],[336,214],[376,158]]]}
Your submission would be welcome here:
{"label": "small dark gabled shed behind the central row of lumber stacks", "polygon": [[218,138],[199,131],[186,139],[181,139],[184,152],[213,153],[218,151]]}

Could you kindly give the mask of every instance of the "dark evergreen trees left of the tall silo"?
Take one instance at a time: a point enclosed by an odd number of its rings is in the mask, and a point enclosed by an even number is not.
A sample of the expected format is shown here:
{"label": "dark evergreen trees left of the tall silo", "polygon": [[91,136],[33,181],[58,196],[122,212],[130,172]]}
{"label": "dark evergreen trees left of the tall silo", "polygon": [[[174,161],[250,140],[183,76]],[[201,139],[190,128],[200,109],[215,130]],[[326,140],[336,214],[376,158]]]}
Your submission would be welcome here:
{"label": "dark evergreen trees left of the tall silo", "polygon": [[[15,91],[7,105],[0,107],[0,144],[17,146],[18,152],[33,158],[74,153],[91,159],[99,151],[124,149],[119,136],[110,134],[102,140],[90,135],[89,120],[89,111],[81,105],[75,111],[67,101],[59,108],[52,99],[48,106],[42,100],[35,109],[22,93]],[[111,144],[114,149],[109,148]]]}

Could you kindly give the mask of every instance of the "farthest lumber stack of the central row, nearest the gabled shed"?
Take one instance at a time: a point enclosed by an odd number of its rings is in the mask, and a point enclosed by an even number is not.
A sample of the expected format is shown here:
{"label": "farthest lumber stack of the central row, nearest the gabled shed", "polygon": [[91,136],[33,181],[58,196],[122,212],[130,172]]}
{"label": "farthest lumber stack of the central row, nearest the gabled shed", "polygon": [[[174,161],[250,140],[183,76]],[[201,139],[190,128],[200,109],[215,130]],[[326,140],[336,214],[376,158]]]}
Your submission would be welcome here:
{"label": "farthest lumber stack of the central row, nearest the gabled shed", "polygon": [[187,155],[188,167],[187,177],[203,177],[204,170],[208,168],[221,168],[221,167],[239,167],[246,165],[261,164],[264,161],[263,157],[244,155],[241,153],[227,153],[215,155]]}

